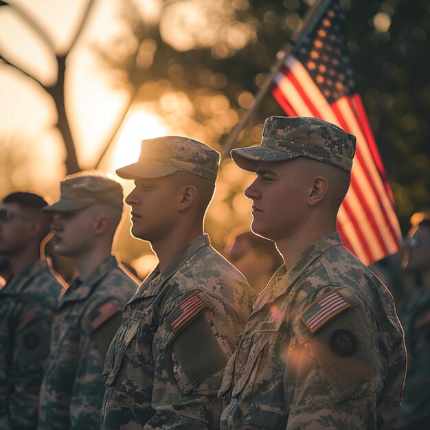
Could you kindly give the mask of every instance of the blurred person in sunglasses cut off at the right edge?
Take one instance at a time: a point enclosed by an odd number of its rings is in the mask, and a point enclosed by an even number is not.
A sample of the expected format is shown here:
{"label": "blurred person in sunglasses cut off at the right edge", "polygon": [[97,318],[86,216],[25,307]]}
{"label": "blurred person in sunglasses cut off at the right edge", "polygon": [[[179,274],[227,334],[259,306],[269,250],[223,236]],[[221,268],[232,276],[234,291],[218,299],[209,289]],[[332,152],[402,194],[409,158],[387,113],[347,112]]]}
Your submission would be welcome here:
{"label": "blurred person in sunglasses cut off at the right edge", "polygon": [[412,227],[402,266],[417,275],[418,299],[403,319],[408,352],[400,429],[427,430],[430,422],[430,219]]}

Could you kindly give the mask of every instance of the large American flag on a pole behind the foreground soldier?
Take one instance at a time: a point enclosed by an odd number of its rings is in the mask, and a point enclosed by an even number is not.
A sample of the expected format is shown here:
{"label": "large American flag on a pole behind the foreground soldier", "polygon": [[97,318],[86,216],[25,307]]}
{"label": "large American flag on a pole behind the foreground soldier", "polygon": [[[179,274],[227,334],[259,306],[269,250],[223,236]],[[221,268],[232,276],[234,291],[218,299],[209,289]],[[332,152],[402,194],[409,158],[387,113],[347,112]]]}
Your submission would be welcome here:
{"label": "large American flag on a pole behind the foreground soldier", "polygon": [[337,215],[344,245],[364,264],[398,251],[394,197],[356,91],[339,0],[326,1],[273,80],[288,116],[317,117],[357,137],[351,185]]}

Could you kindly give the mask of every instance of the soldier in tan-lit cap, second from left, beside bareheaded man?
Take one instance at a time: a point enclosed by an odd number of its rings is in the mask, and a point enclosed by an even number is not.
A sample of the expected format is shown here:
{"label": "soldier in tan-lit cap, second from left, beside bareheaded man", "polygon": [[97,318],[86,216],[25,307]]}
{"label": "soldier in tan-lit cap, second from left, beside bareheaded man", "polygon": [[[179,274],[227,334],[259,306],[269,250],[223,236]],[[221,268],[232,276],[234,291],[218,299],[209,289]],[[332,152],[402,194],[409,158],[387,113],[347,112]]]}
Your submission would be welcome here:
{"label": "soldier in tan-lit cap, second from left, beside bareheaded man", "polygon": [[61,183],[54,214],[56,251],[78,268],[60,297],[41,387],[38,429],[97,429],[102,368],[122,308],[137,288],[111,255],[122,216],[122,187],[102,175],[76,174]]}

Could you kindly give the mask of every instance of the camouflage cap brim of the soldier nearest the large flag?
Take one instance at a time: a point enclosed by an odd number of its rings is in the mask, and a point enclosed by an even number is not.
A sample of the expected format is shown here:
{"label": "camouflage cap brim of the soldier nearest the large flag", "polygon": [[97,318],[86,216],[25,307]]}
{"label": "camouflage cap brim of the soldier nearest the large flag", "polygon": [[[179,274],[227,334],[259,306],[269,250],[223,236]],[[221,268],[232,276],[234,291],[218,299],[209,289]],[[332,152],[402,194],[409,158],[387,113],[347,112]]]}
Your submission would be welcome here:
{"label": "camouflage cap brim of the soldier nearest the large flag", "polygon": [[255,172],[256,165],[262,162],[286,161],[300,157],[295,152],[286,152],[267,146],[248,146],[231,150],[231,159],[238,167],[248,172]]}

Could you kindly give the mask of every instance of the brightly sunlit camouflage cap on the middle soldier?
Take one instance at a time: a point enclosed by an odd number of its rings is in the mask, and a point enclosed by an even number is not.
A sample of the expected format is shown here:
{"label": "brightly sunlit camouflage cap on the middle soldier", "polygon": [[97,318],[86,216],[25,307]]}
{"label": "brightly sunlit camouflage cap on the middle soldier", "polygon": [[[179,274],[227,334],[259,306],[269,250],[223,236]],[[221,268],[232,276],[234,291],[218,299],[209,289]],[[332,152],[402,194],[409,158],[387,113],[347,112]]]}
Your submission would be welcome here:
{"label": "brightly sunlit camouflage cap on the middle soldier", "polygon": [[164,136],[142,140],[139,161],[118,169],[124,179],[159,178],[180,170],[215,181],[219,152],[194,139]]}

